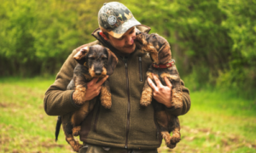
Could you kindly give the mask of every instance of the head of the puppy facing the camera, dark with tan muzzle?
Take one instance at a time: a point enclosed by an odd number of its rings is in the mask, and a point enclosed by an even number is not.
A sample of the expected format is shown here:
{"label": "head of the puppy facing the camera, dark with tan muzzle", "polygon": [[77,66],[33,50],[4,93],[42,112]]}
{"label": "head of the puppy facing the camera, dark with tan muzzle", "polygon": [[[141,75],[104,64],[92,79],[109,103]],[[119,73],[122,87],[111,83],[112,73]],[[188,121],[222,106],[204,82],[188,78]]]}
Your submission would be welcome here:
{"label": "head of the puppy facing the camera, dark with tan muzzle", "polygon": [[117,57],[101,45],[81,48],[74,59],[88,68],[91,77],[111,75],[118,62]]}

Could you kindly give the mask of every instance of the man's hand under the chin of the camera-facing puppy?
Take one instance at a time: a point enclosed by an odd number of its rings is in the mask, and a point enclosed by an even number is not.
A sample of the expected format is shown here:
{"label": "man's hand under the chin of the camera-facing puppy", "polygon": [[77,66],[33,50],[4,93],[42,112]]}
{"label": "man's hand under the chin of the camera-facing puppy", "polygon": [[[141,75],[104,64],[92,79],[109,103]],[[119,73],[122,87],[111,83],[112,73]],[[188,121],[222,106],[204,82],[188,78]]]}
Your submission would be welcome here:
{"label": "man's hand under the chin of the camera-facing puppy", "polygon": [[[86,88],[86,94],[84,97],[84,101],[90,100],[95,98],[97,95],[101,93],[102,89],[102,84],[108,79],[108,76],[103,77],[102,80],[97,82],[99,78],[94,78],[90,82],[87,83],[87,88]],[[73,97],[74,99],[74,97]]]}

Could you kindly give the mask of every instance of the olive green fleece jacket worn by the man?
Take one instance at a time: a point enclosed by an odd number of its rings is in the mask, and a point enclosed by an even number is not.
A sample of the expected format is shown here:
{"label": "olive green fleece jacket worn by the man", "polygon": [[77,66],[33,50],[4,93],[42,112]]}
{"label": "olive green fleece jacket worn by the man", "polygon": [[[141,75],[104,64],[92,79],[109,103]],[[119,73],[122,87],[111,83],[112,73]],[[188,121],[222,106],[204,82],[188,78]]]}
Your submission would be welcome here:
{"label": "olive green fleece jacket worn by the man", "polygon": [[[148,26],[138,26],[137,29],[150,31]],[[107,110],[97,103],[82,122],[80,140],[88,144],[128,149],[160,147],[161,136],[154,119],[154,108],[152,105],[146,108],[139,105],[143,84],[146,81],[146,71],[152,64],[150,57],[137,49],[128,58],[120,56],[115,48],[102,39],[99,31],[97,29],[92,33],[97,41],[74,49],[62,65],[55,82],[45,93],[45,112],[50,116],[62,116],[79,109],[80,106],[73,103],[73,90],[67,90],[67,84],[72,79],[73,69],[77,65],[73,55],[84,46],[100,44],[110,48],[119,59],[113,75],[108,77],[113,105]],[[180,116],[189,111],[189,89],[184,87],[183,82],[182,90],[183,108],[166,108],[167,113]]]}

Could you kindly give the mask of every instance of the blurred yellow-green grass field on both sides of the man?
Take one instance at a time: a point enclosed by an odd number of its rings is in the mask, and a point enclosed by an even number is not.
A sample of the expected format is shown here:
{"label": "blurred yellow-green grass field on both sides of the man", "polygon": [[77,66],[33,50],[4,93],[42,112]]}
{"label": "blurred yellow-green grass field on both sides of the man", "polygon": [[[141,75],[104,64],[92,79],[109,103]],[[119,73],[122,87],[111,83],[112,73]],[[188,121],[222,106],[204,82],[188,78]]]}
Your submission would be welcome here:
{"label": "blurred yellow-green grass field on both sides of the man", "polygon": [[[61,131],[55,143],[56,116],[44,112],[50,78],[0,78],[0,153],[72,152]],[[190,94],[190,111],[179,116],[182,140],[166,152],[256,152],[256,101],[220,91]]]}

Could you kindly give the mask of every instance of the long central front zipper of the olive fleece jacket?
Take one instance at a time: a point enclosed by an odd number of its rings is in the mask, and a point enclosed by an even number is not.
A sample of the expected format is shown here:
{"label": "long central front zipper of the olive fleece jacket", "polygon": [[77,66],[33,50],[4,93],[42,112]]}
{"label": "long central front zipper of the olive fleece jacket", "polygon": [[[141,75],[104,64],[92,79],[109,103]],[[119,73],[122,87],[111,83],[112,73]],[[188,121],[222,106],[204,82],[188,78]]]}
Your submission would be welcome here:
{"label": "long central front zipper of the olive fleece jacket", "polygon": [[130,130],[130,113],[131,113],[131,101],[130,101],[130,91],[129,91],[129,78],[128,78],[128,65],[127,59],[124,59],[125,62],[125,78],[126,78],[126,91],[128,96],[128,106],[127,106],[127,122],[126,122],[126,134],[125,134],[125,148],[128,148],[128,135]]}

